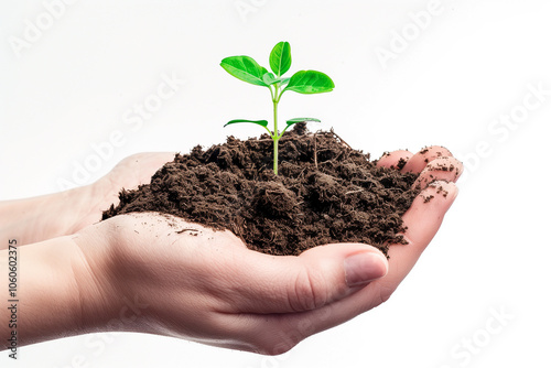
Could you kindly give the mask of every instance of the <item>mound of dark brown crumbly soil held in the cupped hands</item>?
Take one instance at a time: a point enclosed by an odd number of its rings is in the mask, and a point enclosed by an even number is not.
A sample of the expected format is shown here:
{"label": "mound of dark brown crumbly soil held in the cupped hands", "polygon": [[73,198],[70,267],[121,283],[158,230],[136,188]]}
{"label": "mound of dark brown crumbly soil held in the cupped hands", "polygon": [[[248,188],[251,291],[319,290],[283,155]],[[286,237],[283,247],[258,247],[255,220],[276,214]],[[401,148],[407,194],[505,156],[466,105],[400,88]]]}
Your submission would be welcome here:
{"label": "mound of dark brown crumbly soil held in the cupped hands", "polygon": [[387,253],[403,243],[401,216],[419,188],[417,174],[377,167],[369,154],[349,148],[333,131],[311,133],[305,125],[279,143],[279,175],[272,171],[268,134],[229,137],[206,151],[176,154],[102,218],[160,212],[215,229],[229,229],[255,250],[299,255],[331,242],[364,242]]}

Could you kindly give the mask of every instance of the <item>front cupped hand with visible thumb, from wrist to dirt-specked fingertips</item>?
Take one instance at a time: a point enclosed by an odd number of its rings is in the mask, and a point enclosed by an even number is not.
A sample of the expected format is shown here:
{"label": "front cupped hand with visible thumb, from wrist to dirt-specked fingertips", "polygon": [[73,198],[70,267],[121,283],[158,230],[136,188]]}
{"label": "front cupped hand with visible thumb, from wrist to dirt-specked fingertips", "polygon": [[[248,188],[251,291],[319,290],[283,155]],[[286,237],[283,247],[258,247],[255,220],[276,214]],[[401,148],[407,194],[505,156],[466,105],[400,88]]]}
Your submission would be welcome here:
{"label": "front cupped hand with visible thumb, from wrist to dirt-specked fingertips", "polygon": [[[172,216],[112,217],[74,237],[87,331],[134,331],[261,354],[281,354],[392,294],[455,199],[462,164],[443,148],[397,151],[381,166],[421,173],[424,190],[403,215],[408,245],[390,259],[368,245],[327,245],[299,257],[259,253],[229,231]],[[402,161],[402,163],[403,163]],[[435,180],[435,181],[434,181]],[[99,245],[98,245],[99,241]],[[136,318],[120,317],[128,301]],[[112,323],[116,321],[117,323]]]}

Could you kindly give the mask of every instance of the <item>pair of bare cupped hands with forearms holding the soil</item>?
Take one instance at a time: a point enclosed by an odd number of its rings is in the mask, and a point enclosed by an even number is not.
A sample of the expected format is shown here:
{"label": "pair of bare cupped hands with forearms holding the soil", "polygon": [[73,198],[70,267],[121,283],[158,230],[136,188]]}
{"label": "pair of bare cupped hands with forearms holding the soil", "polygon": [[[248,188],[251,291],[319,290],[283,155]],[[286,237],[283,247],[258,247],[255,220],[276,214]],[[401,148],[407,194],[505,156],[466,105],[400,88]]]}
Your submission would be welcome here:
{"label": "pair of bare cupped hands with forearms holding the soil", "polygon": [[[403,215],[408,245],[391,246],[388,260],[361,243],[269,256],[249,250],[230,231],[154,213],[98,223],[120,187],[147,182],[172,154],[127,159],[106,178],[73,194],[24,199],[19,207],[0,204],[2,238],[26,240],[18,248],[24,262],[18,296],[25,316],[18,325],[19,345],[130,331],[284,353],[387,301],[432,240],[457,194],[454,181],[462,165],[443,148],[422,152],[397,151],[378,161],[387,167],[408,161],[402,171],[420,173],[418,184],[424,187]],[[39,212],[29,210],[33,201],[43,204]],[[56,206],[58,223],[41,216],[48,206]],[[25,216],[32,230],[25,230]],[[0,274],[7,274],[7,259],[8,250],[0,251]],[[0,278],[0,290],[7,289],[7,278]],[[8,321],[8,313],[1,309],[0,321]],[[0,336],[9,333],[0,324]]]}

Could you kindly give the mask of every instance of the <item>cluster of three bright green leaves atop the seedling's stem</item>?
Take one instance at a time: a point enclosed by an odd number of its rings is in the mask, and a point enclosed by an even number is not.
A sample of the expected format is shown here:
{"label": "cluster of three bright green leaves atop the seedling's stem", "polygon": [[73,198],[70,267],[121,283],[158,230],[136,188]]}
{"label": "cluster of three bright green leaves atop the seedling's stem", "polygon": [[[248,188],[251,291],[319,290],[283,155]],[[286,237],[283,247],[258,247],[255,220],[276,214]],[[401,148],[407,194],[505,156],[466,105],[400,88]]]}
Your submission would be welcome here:
{"label": "cluster of three bright green leaves atop the seedling's stem", "polygon": [[326,74],[316,71],[300,71],[291,78],[282,78],[291,67],[291,45],[289,42],[280,42],[270,53],[270,68],[273,73],[268,72],[250,56],[229,56],[222,61],[220,66],[234,77],[256,86],[270,88],[272,85],[278,87],[287,85],[279,96],[285,90],[321,94],[335,88],[335,84]]}

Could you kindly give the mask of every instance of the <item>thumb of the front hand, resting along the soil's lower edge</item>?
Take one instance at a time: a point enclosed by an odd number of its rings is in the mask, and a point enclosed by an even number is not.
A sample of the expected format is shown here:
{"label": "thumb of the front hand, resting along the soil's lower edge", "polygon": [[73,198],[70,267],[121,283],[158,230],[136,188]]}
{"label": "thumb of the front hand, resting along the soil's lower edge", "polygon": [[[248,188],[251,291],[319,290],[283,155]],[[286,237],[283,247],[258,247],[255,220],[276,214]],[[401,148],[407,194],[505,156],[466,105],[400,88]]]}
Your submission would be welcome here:
{"label": "thumb of the front hand, resting along the soil's lower edge", "polygon": [[239,263],[244,263],[234,268],[240,271],[231,278],[231,290],[238,291],[231,302],[239,312],[315,310],[353,294],[388,272],[387,258],[377,248],[361,243],[314,247],[299,257],[246,252],[247,257],[239,257]]}

